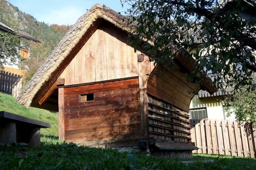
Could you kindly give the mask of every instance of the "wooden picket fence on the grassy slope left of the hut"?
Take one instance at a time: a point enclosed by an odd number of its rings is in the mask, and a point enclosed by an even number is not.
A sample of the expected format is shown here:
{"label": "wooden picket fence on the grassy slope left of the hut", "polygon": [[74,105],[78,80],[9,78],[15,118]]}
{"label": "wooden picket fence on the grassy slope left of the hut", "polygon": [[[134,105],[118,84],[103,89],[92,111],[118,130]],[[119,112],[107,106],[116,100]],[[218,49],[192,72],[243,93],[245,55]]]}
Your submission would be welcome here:
{"label": "wooden picket fence on the grassy slope left of the hut", "polygon": [[22,87],[22,76],[0,71],[0,92],[17,97]]}

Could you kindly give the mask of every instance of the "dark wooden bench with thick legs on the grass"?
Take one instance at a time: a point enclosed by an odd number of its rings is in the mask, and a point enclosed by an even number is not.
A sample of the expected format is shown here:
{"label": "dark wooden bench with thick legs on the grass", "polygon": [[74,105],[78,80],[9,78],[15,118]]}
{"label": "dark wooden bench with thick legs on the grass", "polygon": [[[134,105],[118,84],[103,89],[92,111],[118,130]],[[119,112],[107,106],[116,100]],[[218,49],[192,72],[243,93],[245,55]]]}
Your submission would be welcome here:
{"label": "dark wooden bench with thick legs on the grass", "polygon": [[25,116],[0,111],[0,142],[24,142],[40,146],[40,128],[51,127],[51,124]]}

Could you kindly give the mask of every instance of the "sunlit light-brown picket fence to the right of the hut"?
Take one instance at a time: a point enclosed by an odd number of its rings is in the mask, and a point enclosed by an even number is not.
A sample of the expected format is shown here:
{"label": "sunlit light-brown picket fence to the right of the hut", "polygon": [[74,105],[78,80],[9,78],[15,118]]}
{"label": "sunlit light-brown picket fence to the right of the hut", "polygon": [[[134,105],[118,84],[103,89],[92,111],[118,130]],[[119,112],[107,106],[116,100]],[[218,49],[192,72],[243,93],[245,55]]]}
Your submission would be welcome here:
{"label": "sunlit light-brown picket fence to the right of the hut", "polygon": [[231,120],[190,119],[191,138],[198,150],[230,156],[256,156],[256,127],[247,122]]}

